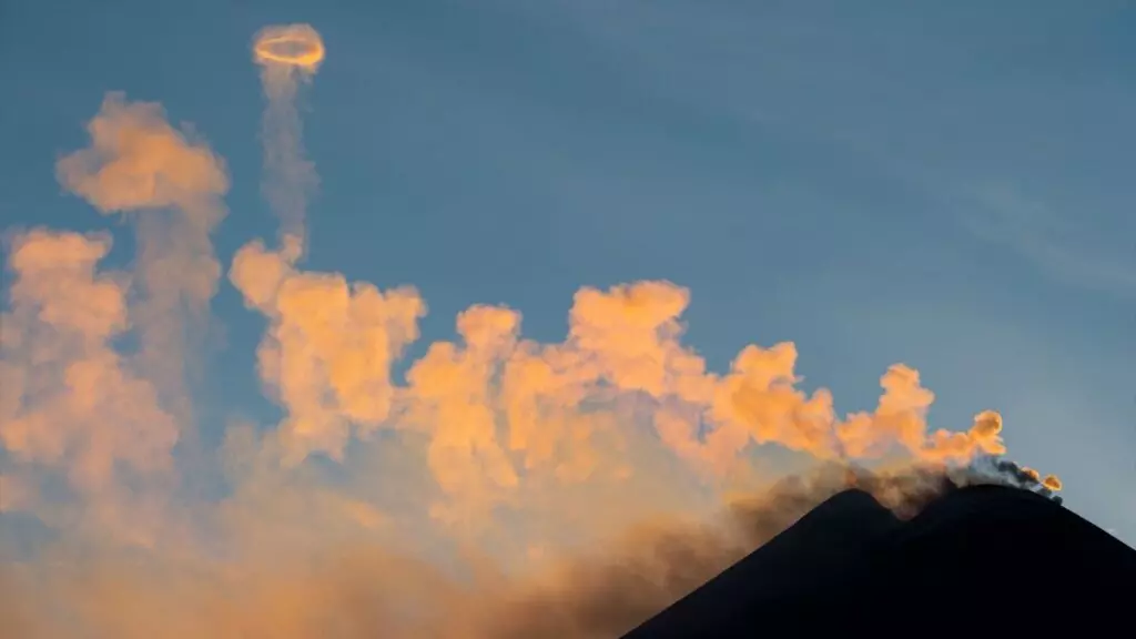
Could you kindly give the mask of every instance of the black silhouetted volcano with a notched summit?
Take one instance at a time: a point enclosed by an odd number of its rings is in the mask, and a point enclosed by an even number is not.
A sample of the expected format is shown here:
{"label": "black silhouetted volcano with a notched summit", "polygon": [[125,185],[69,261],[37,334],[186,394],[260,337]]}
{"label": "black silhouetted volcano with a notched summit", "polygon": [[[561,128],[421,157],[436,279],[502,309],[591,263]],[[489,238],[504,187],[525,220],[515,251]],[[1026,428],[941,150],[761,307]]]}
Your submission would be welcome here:
{"label": "black silhouetted volcano with a notched summit", "polygon": [[1134,622],[1136,550],[1049,497],[971,486],[904,522],[852,489],[624,639],[1127,632]]}

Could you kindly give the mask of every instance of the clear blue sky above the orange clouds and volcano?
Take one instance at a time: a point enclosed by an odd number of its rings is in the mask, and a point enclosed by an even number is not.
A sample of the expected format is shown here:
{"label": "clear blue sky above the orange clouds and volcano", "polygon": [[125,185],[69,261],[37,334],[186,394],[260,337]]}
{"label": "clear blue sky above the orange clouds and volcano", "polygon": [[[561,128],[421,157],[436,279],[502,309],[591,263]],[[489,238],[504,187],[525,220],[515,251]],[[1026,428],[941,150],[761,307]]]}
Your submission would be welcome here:
{"label": "clear blue sky above the orange clouds and volcano", "polygon": [[[290,22],[328,48],[308,266],[417,285],[423,342],[474,302],[558,340],[578,287],[668,279],[715,368],[793,340],[846,412],[910,364],[935,425],[1000,409],[1013,458],[1136,540],[1131,2],[7,2],[2,226],[108,225],[53,164],[123,90],[226,158],[223,263],[272,236],[249,40]],[[214,308],[217,420],[272,415],[261,320],[227,283]]]}

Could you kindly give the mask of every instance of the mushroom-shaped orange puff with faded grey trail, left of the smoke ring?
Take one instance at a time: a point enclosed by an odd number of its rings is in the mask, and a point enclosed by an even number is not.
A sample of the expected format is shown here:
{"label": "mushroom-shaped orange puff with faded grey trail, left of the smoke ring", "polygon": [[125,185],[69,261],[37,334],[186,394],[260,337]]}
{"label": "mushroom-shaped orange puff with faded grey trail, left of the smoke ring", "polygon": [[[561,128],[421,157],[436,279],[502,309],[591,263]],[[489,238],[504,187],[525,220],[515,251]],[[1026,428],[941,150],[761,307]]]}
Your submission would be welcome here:
{"label": "mushroom-shaped orange puff with faded grey trail, left of the smoke ring", "polygon": [[160,105],[127,102],[118,92],[107,94],[86,130],[90,147],[61,158],[57,177],[105,215],[136,213],[137,359],[190,431],[186,368],[201,364],[192,354],[220,279],[210,233],[225,216],[225,163],[191,131],[167,124]]}

